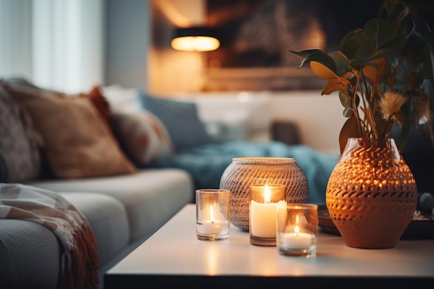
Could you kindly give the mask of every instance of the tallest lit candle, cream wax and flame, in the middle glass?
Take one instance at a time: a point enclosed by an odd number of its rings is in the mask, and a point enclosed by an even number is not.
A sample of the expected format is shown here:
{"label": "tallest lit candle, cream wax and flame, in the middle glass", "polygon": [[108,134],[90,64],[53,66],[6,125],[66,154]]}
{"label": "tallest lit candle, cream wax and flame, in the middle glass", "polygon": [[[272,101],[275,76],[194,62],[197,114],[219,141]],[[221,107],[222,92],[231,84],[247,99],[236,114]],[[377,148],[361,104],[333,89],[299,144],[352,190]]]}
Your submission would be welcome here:
{"label": "tallest lit candle, cream wax and flame, in the middle glass", "polygon": [[261,238],[276,238],[277,207],[276,203],[270,202],[271,193],[267,185],[265,186],[263,196],[263,203],[251,201],[251,233],[253,236]]}

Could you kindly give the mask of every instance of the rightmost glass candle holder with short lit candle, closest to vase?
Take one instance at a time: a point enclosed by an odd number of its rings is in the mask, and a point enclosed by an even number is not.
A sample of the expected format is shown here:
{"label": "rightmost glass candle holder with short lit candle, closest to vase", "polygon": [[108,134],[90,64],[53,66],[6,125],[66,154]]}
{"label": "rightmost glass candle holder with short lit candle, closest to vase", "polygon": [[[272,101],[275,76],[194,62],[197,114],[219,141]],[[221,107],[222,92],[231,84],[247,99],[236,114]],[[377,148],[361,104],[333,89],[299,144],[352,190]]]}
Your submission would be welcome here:
{"label": "rightmost glass candle holder with short lit candle, closest to vase", "polygon": [[318,205],[277,206],[277,249],[288,256],[316,256]]}

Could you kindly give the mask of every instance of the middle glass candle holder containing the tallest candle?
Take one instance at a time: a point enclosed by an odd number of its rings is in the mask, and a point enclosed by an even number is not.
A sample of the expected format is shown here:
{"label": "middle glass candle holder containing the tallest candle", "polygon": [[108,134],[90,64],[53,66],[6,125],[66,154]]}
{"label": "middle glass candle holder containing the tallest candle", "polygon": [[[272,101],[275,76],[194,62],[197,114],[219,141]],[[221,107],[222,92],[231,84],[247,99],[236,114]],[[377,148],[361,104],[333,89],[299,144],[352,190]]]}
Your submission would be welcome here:
{"label": "middle glass candle holder containing the tallest candle", "polygon": [[276,245],[277,204],[286,204],[286,186],[250,186],[250,244],[259,246]]}

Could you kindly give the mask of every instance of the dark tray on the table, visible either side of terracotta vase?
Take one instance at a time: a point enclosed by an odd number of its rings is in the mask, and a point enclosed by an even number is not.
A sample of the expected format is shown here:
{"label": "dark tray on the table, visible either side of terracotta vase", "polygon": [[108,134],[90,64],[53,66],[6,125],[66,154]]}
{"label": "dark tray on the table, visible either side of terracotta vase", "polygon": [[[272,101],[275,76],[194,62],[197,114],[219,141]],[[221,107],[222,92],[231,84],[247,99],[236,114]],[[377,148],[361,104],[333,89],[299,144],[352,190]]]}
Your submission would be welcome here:
{"label": "dark tray on the table, visible either side of terracotta vase", "polygon": [[[434,216],[425,217],[423,219],[415,217],[403,232],[401,240],[434,239]],[[323,233],[340,236],[325,205],[318,206],[318,227]]]}

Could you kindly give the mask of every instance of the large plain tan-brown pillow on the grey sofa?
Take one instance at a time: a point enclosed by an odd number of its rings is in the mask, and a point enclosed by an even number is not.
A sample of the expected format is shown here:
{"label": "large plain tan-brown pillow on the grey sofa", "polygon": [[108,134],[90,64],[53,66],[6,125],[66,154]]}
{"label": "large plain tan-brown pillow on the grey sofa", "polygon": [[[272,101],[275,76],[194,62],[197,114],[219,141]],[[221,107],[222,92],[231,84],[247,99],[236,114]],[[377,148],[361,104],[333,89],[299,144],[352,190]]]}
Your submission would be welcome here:
{"label": "large plain tan-brown pillow on the grey sofa", "polygon": [[135,171],[89,98],[15,85],[3,88],[31,115],[55,177]]}

